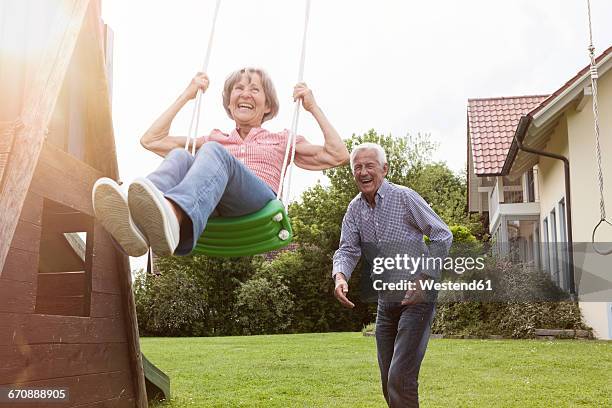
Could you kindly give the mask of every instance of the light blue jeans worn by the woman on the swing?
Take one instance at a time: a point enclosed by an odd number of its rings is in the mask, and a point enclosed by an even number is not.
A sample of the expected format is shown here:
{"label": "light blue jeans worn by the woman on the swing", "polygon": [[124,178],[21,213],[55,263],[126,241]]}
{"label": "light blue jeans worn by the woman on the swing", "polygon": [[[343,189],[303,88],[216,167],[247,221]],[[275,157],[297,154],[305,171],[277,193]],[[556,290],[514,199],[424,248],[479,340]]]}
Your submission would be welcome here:
{"label": "light blue jeans worn by the woman on the swing", "polygon": [[187,215],[176,255],[193,250],[213,212],[237,217],[276,198],[270,186],[217,142],[202,145],[195,157],[185,149],[172,150],[147,178]]}

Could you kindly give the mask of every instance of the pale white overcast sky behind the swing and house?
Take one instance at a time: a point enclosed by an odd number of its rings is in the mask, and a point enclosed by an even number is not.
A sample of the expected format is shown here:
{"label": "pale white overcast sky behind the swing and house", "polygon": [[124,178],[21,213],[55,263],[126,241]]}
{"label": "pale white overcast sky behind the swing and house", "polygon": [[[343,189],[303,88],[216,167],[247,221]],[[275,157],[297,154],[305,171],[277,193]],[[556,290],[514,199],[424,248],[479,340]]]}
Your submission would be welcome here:
{"label": "pale white overcast sky behind the swing and house", "polygon": [[[113,121],[124,182],[161,159],[139,139],[201,69],[215,0],[103,0],[114,31]],[[597,53],[612,45],[612,2],[592,0]],[[304,0],[223,0],[211,54],[200,134],[234,124],[221,104],[226,76],[265,69],[289,128]],[[438,143],[434,159],[465,171],[468,98],[548,94],[588,64],[586,0],[312,0],[304,80],[343,138],[369,129]],[[172,124],[185,135],[191,105]],[[322,144],[303,112],[298,133]],[[298,169],[292,197],[321,172]]]}

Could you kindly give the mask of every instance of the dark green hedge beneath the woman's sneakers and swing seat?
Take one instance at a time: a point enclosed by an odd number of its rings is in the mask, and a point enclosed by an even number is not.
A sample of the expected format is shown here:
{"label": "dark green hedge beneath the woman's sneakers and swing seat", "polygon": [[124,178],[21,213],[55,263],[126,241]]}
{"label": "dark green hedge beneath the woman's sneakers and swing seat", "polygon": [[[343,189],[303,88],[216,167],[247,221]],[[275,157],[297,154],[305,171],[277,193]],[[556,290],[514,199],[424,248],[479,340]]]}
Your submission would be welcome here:
{"label": "dark green hedge beneath the woman's sneakers and swing seat", "polygon": [[231,335],[240,331],[234,304],[242,282],[255,272],[251,258],[204,256],[157,260],[160,275],[135,282],[138,323],[160,336]]}

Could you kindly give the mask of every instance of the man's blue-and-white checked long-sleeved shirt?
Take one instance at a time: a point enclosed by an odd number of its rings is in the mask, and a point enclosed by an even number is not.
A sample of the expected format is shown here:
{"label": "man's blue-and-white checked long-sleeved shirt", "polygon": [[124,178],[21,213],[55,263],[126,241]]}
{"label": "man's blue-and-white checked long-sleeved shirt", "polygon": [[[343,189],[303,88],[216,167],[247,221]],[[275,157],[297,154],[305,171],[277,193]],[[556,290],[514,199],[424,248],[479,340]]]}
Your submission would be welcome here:
{"label": "man's blue-and-white checked long-sleeved shirt", "polygon": [[[383,180],[375,202],[376,206],[370,207],[359,193],[349,204],[342,221],[340,245],[334,254],[332,278],[342,272],[348,280],[362,252],[372,253],[372,249],[377,254],[388,253],[390,248],[402,248],[412,256],[443,258],[448,254],[453,235],[414,190]],[[429,245],[425,245],[424,235],[429,237]],[[432,278],[440,277],[439,270],[426,273]]]}

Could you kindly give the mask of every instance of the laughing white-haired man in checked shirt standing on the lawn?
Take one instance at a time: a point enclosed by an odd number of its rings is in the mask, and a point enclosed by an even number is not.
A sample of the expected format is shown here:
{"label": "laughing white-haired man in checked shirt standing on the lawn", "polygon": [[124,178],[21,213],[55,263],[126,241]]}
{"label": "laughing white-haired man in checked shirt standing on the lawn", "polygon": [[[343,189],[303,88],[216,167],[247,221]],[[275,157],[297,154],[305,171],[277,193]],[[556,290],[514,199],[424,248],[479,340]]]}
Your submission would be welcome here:
{"label": "laughing white-haired man in checked shirt standing on the lawn", "polygon": [[[348,283],[361,255],[376,264],[374,255],[389,255],[389,248],[405,248],[411,256],[443,258],[452,243],[447,225],[423,198],[410,188],[385,179],[388,170],[383,148],[363,143],[353,149],[351,169],[360,193],[351,201],[342,221],[340,245],[334,254],[332,277],[335,297],[346,307]],[[425,245],[424,236],[429,245]],[[392,251],[393,252],[393,251]],[[393,258],[393,254],[386,259]],[[399,299],[378,294],[376,347],[385,400],[390,407],[418,407],[418,374],[435,313],[435,292],[423,290],[437,279],[440,268],[413,270],[412,287]]]}

